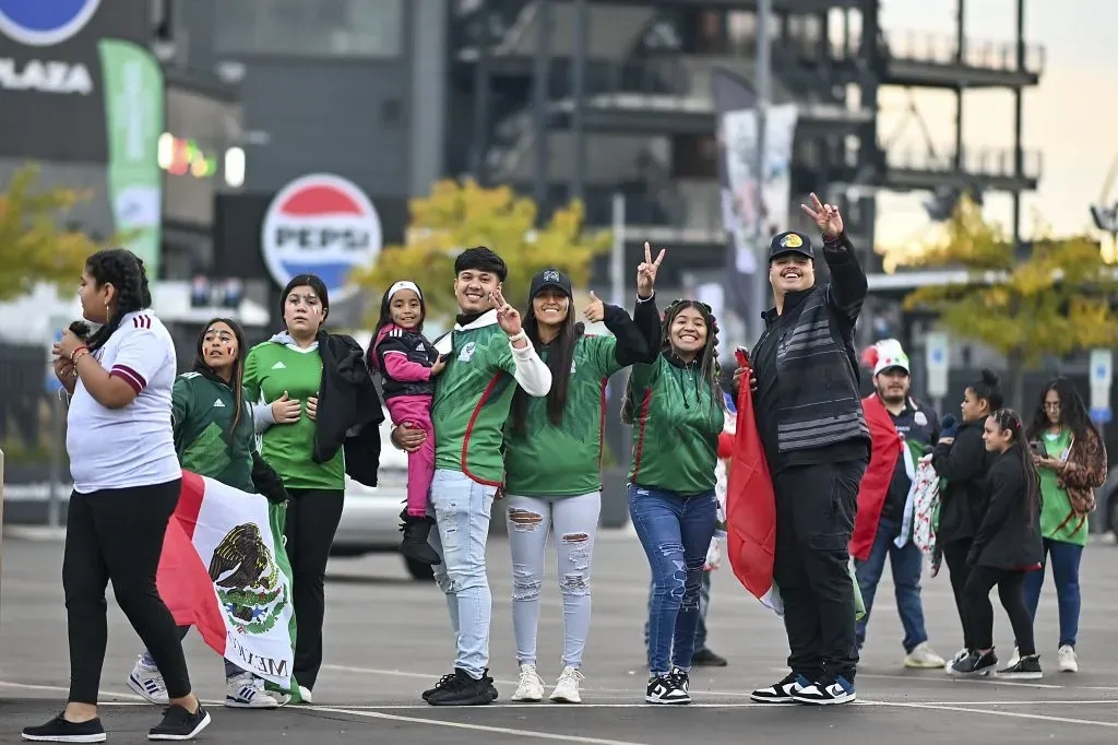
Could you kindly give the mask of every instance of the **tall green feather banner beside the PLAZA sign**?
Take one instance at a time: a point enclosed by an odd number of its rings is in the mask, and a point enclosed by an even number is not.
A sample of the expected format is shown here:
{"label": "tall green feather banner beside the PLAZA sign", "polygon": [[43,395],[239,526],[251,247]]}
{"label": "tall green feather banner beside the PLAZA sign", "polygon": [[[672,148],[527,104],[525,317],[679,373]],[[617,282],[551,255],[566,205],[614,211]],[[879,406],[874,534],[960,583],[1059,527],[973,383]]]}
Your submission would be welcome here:
{"label": "tall green feather banner beside the PLAZA sign", "polygon": [[108,199],[116,232],[139,256],[152,281],[159,276],[162,224],[162,172],[159,135],[163,132],[163,70],[138,44],[102,39],[97,44],[108,132]]}

